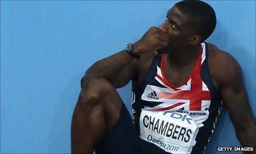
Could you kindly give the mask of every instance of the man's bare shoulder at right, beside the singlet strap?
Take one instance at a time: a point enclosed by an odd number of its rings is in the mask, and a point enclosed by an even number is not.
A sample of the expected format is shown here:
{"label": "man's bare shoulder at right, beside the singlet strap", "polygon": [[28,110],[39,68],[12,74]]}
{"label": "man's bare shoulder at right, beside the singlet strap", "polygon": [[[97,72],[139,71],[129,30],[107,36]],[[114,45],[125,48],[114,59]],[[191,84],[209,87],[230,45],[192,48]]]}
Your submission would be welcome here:
{"label": "man's bare shoulder at right, beside the singlet strap", "polygon": [[208,64],[210,74],[218,87],[242,78],[241,67],[236,59],[229,52],[222,51],[210,43],[208,43]]}

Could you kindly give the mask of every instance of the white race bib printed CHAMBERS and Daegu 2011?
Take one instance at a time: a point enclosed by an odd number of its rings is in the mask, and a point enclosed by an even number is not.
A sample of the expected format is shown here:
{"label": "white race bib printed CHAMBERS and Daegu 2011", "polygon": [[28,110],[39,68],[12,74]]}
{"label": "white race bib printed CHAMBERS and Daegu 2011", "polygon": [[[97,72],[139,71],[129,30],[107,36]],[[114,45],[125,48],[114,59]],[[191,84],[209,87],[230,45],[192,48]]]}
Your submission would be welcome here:
{"label": "white race bib printed CHAMBERS and Daegu 2011", "polygon": [[193,119],[180,112],[142,110],[141,139],[170,153],[190,153],[196,144],[198,127]]}

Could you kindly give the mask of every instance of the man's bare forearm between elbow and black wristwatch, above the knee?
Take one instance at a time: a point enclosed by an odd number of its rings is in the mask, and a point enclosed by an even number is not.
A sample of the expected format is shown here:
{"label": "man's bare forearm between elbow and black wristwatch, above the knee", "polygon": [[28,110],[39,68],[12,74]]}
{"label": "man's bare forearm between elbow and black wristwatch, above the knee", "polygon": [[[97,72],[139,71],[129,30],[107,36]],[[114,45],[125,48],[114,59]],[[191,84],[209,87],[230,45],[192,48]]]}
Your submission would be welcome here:
{"label": "man's bare forearm between elbow and black wristwatch, above the knee", "polygon": [[104,78],[114,82],[122,70],[130,64],[132,58],[125,50],[94,63],[85,73],[81,85],[90,78]]}

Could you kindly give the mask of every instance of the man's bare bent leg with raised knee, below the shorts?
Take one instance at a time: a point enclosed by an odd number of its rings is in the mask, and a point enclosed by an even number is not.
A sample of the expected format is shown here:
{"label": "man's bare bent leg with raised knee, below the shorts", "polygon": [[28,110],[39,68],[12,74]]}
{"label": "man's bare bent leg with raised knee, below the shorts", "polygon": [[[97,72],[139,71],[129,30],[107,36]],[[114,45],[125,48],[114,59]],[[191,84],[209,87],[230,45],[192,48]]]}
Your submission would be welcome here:
{"label": "man's bare bent leg with raised knee, below the shorts", "polygon": [[119,119],[122,100],[105,79],[90,79],[82,86],[71,123],[72,153],[92,153],[105,129]]}

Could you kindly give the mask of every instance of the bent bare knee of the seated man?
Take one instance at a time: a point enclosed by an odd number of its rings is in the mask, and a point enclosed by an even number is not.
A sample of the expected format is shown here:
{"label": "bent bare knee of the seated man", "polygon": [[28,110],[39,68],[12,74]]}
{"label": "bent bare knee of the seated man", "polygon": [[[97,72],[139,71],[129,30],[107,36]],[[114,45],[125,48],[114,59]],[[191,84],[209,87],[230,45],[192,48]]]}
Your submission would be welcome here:
{"label": "bent bare knee of the seated man", "polygon": [[103,96],[112,91],[114,86],[106,79],[91,78],[82,84],[82,90],[79,96],[81,102],[100,102]]}

